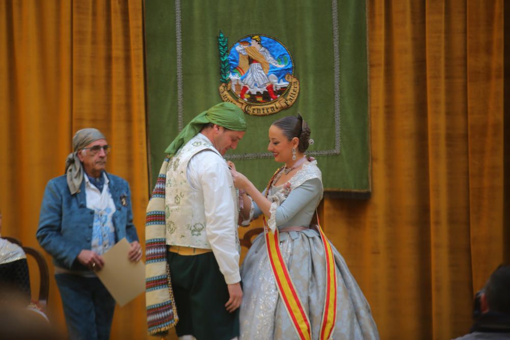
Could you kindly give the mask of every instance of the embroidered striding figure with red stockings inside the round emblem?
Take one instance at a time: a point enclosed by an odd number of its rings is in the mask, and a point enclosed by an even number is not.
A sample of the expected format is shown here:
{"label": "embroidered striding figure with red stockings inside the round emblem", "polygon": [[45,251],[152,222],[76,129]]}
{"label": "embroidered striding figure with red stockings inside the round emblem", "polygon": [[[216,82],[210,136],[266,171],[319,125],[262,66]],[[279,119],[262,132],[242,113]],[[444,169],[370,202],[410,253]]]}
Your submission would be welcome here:
{"label": "embroidered striding figure with red stockings inside the round emblem", "polygon": [[238,68],[246,70],[246,76],[241,79],[243,88],[239,97],[246,100],[246,91],[256,88],[265,88],[271,97],[271,100],[276,99],[278,96],[274,93],[273,84],[268,78],[269,64],[274,67],[285,67],[279,64],[269,53],[269,50],[262,46],[261,38],[258,35],[251,37],[251,42],[241,41],[236,46],[236,51],[239,53]]}

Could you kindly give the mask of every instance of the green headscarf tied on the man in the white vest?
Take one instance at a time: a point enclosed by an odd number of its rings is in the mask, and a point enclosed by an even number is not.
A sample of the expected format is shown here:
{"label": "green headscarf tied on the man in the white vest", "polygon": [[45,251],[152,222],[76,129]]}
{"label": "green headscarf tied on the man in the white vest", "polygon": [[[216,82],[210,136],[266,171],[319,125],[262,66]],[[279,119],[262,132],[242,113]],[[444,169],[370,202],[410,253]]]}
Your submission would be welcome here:
{"label": "green headscarf tied on the man in the white vest", "polygon": [[246,123],[244,119],[243,110],[236,104],[222,102],[193,118],[188,125],[183,128],[181,133],[175,137],[173,142],[168,145],[165,152],[171,157],[181,146],[195,137],[205,124],[209,123],[235,131],[245,131],[248,128],[248,123]]}

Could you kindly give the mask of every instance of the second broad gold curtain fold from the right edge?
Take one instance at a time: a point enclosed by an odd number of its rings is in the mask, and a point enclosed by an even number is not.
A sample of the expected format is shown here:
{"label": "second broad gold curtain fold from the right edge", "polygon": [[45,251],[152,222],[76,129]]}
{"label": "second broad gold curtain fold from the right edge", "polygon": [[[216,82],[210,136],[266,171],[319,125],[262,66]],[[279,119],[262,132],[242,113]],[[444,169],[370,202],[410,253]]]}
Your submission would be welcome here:
{"label": "second broad gold curtain fold from the right edge", "polygon": [[432,337],[441,339],[465,331],[472,305],[465,3],[427,3],[426,28]]}

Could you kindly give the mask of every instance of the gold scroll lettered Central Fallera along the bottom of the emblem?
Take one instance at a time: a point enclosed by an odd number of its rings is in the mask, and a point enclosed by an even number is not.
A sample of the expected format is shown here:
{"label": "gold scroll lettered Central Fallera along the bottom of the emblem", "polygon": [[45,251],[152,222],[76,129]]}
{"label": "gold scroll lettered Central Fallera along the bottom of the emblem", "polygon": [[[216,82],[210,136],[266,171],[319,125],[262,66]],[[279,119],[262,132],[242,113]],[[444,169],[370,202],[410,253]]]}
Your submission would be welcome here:
{"label": "gold scroll lettered Central Fallera along the bottom of the emblem", "polygon": [[240,98],[234,98],[230,93],[231,83],[223,83],[219,87],[220,97],[223,101],[236,104],[245,113],[252,116],[267,116],[290,108],[296,102],[299,94],[299,80],[292,74],[287,74],[285,80],[289,82],[289,89],[285,95],[279,96],[276,100],[267,104],[252,104]]}

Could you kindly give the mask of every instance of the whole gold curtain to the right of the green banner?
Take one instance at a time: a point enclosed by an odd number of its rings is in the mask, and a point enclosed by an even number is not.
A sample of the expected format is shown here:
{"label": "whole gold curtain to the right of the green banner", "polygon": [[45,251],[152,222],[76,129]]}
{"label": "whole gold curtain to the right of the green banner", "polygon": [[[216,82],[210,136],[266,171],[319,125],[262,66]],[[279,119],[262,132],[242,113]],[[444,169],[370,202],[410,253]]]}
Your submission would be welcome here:
{"label": "whole gold curtain to the right of the green banner", "polygon": [[325,200],[383,339],[468,332],[504,260],[503,2],[369,1],[372,198]]}

